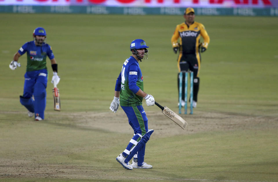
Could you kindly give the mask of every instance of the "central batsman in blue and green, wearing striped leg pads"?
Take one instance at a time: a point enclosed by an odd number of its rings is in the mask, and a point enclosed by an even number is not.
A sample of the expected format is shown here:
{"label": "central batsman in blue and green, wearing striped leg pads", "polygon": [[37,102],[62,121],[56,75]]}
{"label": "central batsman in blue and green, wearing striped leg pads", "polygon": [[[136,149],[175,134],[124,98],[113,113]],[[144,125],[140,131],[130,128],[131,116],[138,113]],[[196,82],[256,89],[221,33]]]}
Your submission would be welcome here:
{"label": "central batsman in blue and green, wearing striped leg pads", "polygon": [[[146,99],[147,106],[155,104],[150,94],[143,92],[143,76],[139,67],[141,59],[148,59],[149,48],[145,41],[136,39],[130,44],[132,55],[123,63],[121,73],[115,85],[114,100],[110,105],[112,112],[117,112],[119,105],[128,117],[128,122],[134,130],[134,135],[126,149],[117,156],[116,160],[126,169],[152,168],[144,162],[145,146],[153,130],[148,130],[148,118],[142,107]],[[132,164],[129,163],[132,159]]]}

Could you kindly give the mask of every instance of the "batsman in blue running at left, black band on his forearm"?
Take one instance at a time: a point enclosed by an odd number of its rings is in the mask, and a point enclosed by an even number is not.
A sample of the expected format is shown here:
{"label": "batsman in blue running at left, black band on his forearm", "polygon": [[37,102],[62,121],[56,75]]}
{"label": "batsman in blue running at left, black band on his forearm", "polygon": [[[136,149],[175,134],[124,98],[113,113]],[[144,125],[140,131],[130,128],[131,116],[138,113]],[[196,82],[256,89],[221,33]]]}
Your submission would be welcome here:
{"label": "batsman in blue running at left, black band on his forearm", "polygon": [[[27,67],[24,75],[24,90],[20,96],[20,103],[28,110],[28,116],[35,115],[36,121],[44,119],[44,110],[46,108],[46,86],[48,70],[46,68],[46,56],[51,61],[53,77],[51,83],[60,81],[57,75],[57,63],[50,45],[46,41],[46,31],[38,27],[33,33],[34,41],[26,42],[14,54],[13,61],[10,63],[10,69],[15,70],[20,67],[18,59],[25,52],[27,53]],[[34,96],[34,97],[33,97]]]}

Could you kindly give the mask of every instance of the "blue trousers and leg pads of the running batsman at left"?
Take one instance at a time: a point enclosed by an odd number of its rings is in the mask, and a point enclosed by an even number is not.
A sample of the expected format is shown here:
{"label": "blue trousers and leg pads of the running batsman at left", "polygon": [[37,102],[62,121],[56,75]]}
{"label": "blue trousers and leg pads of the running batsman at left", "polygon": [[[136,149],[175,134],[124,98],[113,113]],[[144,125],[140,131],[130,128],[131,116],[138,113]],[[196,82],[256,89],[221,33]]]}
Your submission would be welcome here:
{"label": "blue trousers and leg pads of the running batsman at left", "polygon": [[[46,108],[47,76],[46,69],[26,72],[23,96],[20,97],[20,103],[30,112],[34,112],[35,117],[39,115],[42,119]],[[32,100],[33,95],[34,100]]]}

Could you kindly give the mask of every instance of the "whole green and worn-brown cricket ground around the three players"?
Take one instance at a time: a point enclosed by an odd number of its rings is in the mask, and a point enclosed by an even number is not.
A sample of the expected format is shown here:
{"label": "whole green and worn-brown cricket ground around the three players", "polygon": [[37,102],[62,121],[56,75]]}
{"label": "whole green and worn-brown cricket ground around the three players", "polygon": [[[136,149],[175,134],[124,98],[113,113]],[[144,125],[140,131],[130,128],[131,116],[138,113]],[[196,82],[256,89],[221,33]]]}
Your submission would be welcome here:
{"label": "whole green and worn-brown cricket ground around the three players", "polygon": [[[277,17],[196,16],[211,42],[201,54],[200,90],[181,131],[143,103],[150,170],[115,160],[132,137],[121,108],[109,110],[130,42],[144,39],[144,91],[177,108],[177,55],[170,39],[182,16],[0,14],[0,181],[278,181]],[[53,111],[51,65],[45,120],[20,104],[26,55],[14,53],[42,26],[58,63],[61,112]],[[166,125],[159,125],[160,120]],[[168,124],[167,124],[168,122]],[[172,128],[171,128],[172,127]],[[114,129],[115,128],[115,129]]]}

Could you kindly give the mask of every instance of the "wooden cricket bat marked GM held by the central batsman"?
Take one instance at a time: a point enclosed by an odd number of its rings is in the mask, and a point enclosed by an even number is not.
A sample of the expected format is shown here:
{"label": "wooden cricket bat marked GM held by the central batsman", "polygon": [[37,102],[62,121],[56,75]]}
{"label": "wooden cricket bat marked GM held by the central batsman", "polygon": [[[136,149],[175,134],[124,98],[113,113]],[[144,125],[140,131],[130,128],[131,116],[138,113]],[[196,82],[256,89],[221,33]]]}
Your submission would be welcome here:
{"label": "wooden cricket bat marked GM held by the central batsman", "polygon": [[157,105],[162,110],[163,114],[165,114],[168,118],[177,123],[177,125],[179,125],[183,130],[185,130],[187,123],[184,119],[182,119],[179,115],[170,110],[167,106],[163,107],[157,102],[155,102],[155,105]]}

